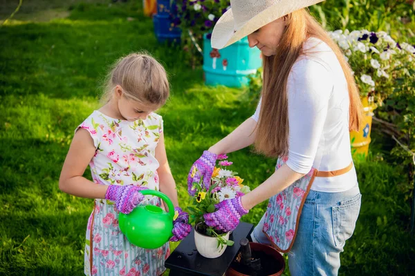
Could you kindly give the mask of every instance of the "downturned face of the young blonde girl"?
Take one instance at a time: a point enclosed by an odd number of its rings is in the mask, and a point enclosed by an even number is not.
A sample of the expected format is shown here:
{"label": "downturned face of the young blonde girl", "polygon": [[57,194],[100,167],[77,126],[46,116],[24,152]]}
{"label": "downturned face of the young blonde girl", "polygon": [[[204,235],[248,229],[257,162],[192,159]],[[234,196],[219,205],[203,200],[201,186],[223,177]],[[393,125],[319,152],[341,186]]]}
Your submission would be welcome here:
{"label": "downturned face of the young blonde girl", "polygon": [[127,99],[124,92],[122,92],[122,88],[120,90],[116,88],[116,99],[118,111],[127,121],[136,121],[137,119],[145,120],[151,112],[160,108],[159,105],[155,105],[153,103],[144,104]]}

